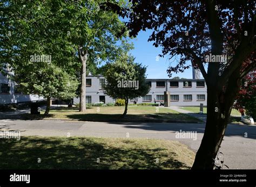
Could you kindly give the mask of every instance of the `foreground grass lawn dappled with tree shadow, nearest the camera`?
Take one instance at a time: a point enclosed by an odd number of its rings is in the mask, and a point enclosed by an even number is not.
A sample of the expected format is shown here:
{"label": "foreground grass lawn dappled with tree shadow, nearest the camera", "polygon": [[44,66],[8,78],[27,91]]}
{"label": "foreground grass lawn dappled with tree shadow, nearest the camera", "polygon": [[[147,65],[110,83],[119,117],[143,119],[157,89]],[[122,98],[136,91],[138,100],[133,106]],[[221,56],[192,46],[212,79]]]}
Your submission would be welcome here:
{"label": "foreground grass lawn dappled with tree shadow, nearest the camera", "polygon": [[168,140],[25,136],[0,141],[0,169],[190,169],[194,156]]}

